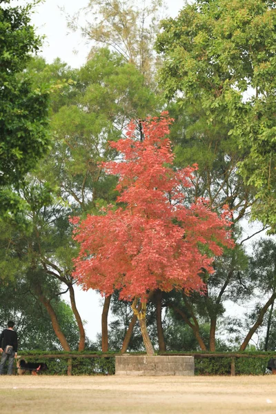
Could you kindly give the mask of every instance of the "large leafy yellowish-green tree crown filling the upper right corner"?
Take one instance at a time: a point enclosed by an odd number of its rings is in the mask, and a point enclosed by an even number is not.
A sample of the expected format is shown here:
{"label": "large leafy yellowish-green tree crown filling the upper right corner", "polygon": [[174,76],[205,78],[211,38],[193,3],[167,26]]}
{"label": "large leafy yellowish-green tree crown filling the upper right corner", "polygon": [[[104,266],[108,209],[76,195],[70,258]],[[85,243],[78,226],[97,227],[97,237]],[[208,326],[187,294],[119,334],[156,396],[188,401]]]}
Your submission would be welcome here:
{"label": "large leafy yellowish-green tree crown filling the upper right corner", "polygon": [[239,172],[255,186],[253,217],[275,230],[275,2],[197,0],[163,23],[157,50],[169,97],[181,92],[206,122],[246,152]]}

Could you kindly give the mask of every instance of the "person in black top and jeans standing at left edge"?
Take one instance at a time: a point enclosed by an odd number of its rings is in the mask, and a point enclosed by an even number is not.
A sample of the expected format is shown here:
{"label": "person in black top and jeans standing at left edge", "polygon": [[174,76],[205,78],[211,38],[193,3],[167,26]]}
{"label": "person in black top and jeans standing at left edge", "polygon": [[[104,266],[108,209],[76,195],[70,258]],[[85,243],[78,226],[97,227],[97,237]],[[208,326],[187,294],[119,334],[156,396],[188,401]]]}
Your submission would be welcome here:
{"label": "person in black top and jeans standing at left edge", "polygon": [[[3,374],[3,367],[8,359],[8,375],[12,375],[14,357],[17,357],[17,333],[13,330],[14,322],[8,322],[8,329],[4,329],[0,336],[0,352],[2,353],[0,362],[0,375]],[[12,346],[12,353],[6,353],[6,346]]]}

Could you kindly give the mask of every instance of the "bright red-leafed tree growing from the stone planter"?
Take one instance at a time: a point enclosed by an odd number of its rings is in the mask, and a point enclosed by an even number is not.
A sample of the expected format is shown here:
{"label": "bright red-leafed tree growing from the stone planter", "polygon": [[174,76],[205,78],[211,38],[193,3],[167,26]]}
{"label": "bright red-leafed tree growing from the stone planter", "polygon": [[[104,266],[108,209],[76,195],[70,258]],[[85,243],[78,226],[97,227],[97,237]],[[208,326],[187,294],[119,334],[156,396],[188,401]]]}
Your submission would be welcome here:
{"label": "bright red-leafed tree growing from the stone planter", "polygon": [[232,243],[227,210],[219,216],[204,199],[188,205],[185,193],[196,166],[172,168],[171,122],[166,112],[147,119],[143,140],[130,124],[127,138],[110,144],[119,161],[103,164],[108,174],[119,176],[118,208],[81,222],[72,219],[81,244],[75,278],[86,289],[104,295],[118,289],[122,299],[133,301],[148,355],[154,353],[146,330],[148,293],[157,288],[204,293],[202,271],[213,272],[213,256]]}

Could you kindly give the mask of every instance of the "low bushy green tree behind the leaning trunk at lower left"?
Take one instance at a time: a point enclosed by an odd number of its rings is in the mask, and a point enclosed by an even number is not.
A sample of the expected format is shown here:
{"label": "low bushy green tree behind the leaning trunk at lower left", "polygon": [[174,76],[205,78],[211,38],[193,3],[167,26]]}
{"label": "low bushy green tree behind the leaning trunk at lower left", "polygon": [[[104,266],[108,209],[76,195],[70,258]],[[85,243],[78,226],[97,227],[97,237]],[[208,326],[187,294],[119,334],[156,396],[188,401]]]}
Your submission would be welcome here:
{"label": "low bushy green tree behind the leaning trunk at lower left", "polygon": [[[52,284],[52,280],[49,281]],[[52,288],[52,286],[50,286]],[[59,290],[59,286],[56,286]],[[78,328],[70,306],[58,295],[52,299],[52,306],[59,319],[62,331],[68,339],[70,348],[77,349]],[[1,284],[0,287],[1,330],[12,319],[19,335],[19,351],[41,349],[43,351],[61,350],[57,335],[52,328],[46,308],[37,299],[28,279],[21,275],[14,282]]]}

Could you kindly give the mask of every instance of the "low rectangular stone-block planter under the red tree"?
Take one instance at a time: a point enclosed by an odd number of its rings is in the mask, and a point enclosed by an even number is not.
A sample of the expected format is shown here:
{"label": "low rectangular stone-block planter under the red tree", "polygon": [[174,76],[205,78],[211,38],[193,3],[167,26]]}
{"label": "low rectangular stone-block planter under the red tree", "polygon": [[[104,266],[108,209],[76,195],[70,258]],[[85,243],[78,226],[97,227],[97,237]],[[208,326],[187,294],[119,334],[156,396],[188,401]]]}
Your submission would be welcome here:
{"label": "low rectangular stone-block planter under the red tree", "polygon": [[115,375],[195,375],[195,361],[180,355],[122,355],[115,357]]}

